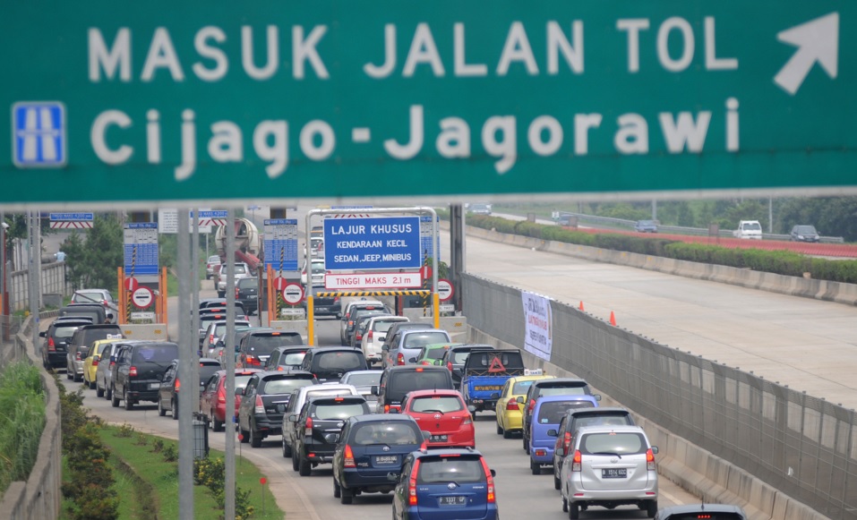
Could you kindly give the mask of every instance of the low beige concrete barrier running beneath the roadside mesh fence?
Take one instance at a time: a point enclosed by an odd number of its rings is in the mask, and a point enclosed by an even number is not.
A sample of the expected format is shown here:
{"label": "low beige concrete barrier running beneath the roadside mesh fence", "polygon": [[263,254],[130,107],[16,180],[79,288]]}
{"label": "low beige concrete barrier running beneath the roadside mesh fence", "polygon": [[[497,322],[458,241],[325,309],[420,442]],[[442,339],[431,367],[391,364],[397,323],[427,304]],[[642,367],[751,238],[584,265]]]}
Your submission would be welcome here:
{"label": "low beige concrete barrier running beneath the roadside mesh fence", "polygon": [[[521,350],[525,366],[540,368],[545,374],[559,378],[580,377],[578,374],[529,354],[518,345],[502,342],[477,328],[468,328],[467,340],[472,343],[494,345],[497,348],[517,348]],[[599,393],[597,388],[593,388],[593,391]],[[600,405],[622,406],[605,395],[602,396]],[[659,449],[658,474],[675,482],[702,501],[739,505],[753,520],[824,520],[827,518],[741,468],[729,464],[719,456],[664,430],[638,413],[634,413],[634,418],[646,430],[652,444]]]}

